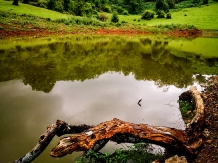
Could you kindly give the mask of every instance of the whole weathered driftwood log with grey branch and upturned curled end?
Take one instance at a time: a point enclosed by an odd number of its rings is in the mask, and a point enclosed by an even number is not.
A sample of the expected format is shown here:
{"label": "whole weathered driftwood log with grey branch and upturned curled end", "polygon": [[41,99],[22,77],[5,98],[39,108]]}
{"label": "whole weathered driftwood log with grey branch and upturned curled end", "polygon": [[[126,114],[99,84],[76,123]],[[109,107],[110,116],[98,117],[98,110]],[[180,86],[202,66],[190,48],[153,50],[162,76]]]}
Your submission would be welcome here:
{"label": "whole weathered driftwood log with grey branch and upturned curled end", "polygon": [[117,143],[148,142],[165,147],[179,155],[197,154],[202,144],[201,133],[204,122],[204,104],[196,87],[181,94],[180,99],[189,98],[195,104],[196,115],[187,124],[186,130],[169,127],[150,126],[148,124],[134,124],[114,118],[97,126],[69,125],[57,120],[56,124],[47,127],[46,133],[40,136],[38,144],[24,157],[14,163],[31,162],[34,160],[52,138],[57,135],[75,134],[61,138],[59,143],[51,150],[51,156],[62,157],[74,151],[99,151],[112,140]]}

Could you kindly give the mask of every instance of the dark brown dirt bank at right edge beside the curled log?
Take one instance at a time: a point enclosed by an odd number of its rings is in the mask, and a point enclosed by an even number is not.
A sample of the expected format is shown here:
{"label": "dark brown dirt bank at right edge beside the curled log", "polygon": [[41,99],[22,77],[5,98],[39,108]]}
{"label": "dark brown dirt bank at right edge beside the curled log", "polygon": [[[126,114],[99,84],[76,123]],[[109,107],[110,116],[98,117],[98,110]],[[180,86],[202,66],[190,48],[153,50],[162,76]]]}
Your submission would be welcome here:
{"label": "dark brown dirt bank at right edge beside the curled log", "polygon": [[203,145],[190,163],[218,162],[218,76],[211,77],[207,85],[201,94],[205,107]]}

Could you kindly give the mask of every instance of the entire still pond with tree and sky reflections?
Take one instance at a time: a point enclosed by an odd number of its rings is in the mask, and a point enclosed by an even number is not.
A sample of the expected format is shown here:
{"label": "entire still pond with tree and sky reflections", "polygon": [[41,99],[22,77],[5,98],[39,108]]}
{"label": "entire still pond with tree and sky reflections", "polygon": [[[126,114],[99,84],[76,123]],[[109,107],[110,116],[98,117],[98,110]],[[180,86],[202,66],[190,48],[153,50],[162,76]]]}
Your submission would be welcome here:
{"label": "entire still pond with tree and sky reflections", "polygon": [[[119,118],[184,129],[178,97],[218,74],[217,43],[217,38],[98,35],[1,40],[2,162],[26,154],[57,119],[96,125]],[[33,162],[75,162],[79,152],[50,157],[58,140]]]}

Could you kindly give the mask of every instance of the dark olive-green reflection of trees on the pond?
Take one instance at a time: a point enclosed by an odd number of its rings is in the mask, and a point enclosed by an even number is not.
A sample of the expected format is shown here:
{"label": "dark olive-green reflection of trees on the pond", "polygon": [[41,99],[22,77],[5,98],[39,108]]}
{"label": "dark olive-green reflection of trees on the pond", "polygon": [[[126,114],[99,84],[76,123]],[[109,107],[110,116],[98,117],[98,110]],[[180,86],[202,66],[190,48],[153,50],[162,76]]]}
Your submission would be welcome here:
{"label": "dark olive-green reflection of trees on the pond", "polygon": [[90,41],[81,37],[35,47],[17,46],[0,56],[0,80],[24,78],[34,90],[49,92],[58,80],[84,81],[108,71],[133,72],[136,79],[154,80],[158,87],[185,87],[193,83],[193,74],[217,73],[217,67],[211,67],[213,60],[173,55],[177,53],[182,52],[171,51],[167,41],[149,38]]}

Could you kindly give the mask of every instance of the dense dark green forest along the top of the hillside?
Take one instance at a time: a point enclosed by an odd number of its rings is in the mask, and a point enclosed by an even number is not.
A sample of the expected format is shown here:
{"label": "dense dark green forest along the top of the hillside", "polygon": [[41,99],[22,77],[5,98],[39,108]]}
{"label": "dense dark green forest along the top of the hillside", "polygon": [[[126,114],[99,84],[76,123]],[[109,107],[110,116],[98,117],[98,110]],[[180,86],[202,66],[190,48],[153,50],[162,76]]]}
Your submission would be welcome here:
{"label": "dense dark green forest along the top of the hillside", "polygon": [[[92,16],[98,12],[116,12],[120,15],[141,14],[144,10],[168,12],[169,9],[207,4],[208,0],[21,0],[21,2],[61,13]],[[13,4],[18,5],[18,0],[14,0]]]}

